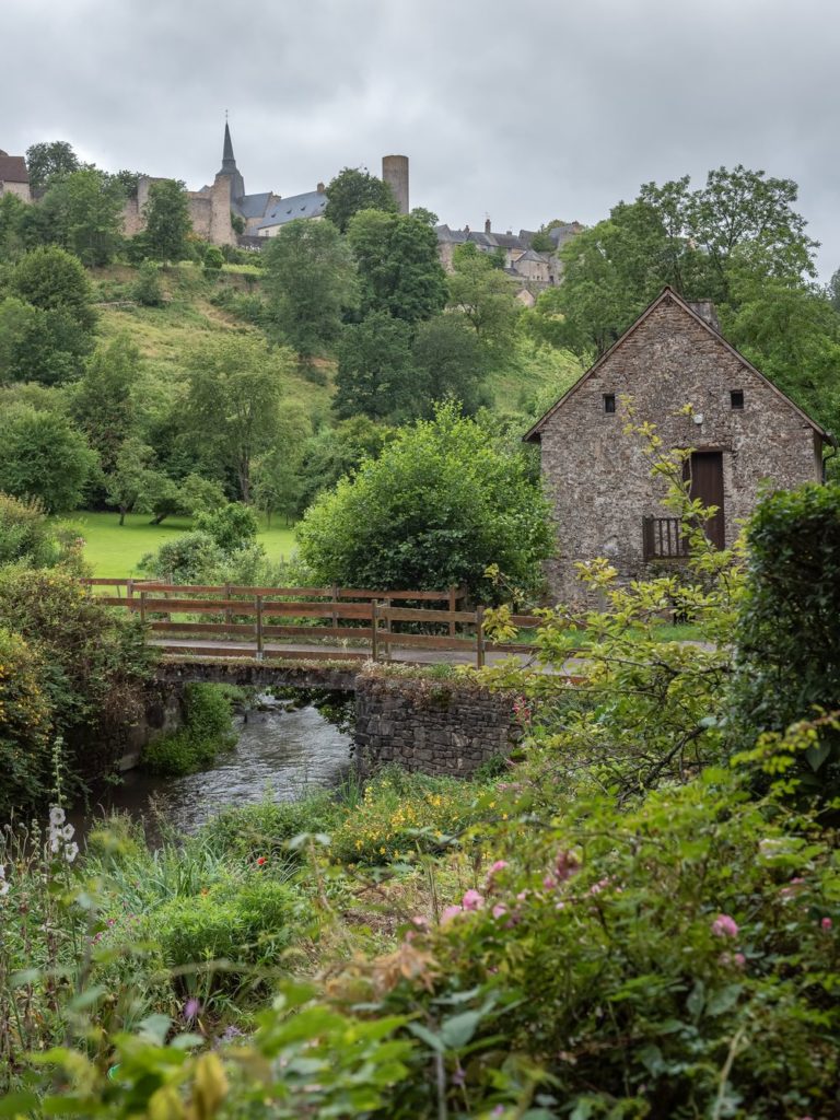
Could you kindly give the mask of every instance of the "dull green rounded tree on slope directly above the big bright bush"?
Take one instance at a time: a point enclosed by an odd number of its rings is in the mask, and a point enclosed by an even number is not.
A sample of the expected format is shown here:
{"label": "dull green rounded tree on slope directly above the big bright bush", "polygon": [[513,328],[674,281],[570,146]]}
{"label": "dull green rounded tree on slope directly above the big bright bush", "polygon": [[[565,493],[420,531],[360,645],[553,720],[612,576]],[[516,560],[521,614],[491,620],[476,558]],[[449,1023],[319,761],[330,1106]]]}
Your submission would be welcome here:
{"label": "dull green rounded tree on slope directly above the big bright bush", "polygon": [[466,413],[489,403],[483,389],[487,354],[463,315],[436,315],[421,323],[411,352],[414,379],[431,413],[433,401],[451,398]]}

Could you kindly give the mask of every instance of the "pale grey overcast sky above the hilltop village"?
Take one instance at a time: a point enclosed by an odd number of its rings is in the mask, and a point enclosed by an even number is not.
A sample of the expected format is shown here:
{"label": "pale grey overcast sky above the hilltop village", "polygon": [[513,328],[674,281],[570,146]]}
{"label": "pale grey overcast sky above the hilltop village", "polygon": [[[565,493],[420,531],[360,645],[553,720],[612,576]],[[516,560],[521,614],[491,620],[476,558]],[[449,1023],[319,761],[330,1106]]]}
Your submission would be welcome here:
{"label": "pale grey overcast sky above the hilltop village", "polygon": [[0,0],[0,148],[249,192],[411,160],[451,226],[591,224],[640,184],[795,179],[840,267],[837,0]]}

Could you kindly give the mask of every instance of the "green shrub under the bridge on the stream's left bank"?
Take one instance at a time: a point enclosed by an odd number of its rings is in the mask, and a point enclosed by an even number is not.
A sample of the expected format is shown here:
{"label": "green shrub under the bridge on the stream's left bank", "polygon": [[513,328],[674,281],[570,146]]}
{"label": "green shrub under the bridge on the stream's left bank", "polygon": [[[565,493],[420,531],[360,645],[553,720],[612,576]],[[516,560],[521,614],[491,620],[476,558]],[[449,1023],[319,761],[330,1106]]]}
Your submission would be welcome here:
{"label": "green shrub under the bridge on the stream's left bank", "polygon": [[143,752],[143,766],[153,774],[192,774],[211,766],[221,750],[235,746],[230,694],[216,684],[187,684],[185,726],[161,736]]}

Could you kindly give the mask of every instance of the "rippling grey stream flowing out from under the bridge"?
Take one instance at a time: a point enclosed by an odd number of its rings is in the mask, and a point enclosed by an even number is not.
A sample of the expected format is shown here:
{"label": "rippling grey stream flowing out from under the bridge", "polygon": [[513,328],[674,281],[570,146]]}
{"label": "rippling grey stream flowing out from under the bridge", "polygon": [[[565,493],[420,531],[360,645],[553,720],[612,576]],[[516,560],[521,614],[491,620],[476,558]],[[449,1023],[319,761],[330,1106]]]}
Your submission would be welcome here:
{"label": "rippling grey stream flowing out from under the bridge", "polygon": [[292,801],[337,785],[351,767],[351,736],[315,708],[249,711],[246,719],[234,720],[234,728],[236,746],[209,769],[184,777],[129,771],[120,785],[100,792],[93,816],[106,809],[142,820],[150,833],[158,831],[157,818],[179,832],[195,832],[227,805],[252,804],[267,795]]}

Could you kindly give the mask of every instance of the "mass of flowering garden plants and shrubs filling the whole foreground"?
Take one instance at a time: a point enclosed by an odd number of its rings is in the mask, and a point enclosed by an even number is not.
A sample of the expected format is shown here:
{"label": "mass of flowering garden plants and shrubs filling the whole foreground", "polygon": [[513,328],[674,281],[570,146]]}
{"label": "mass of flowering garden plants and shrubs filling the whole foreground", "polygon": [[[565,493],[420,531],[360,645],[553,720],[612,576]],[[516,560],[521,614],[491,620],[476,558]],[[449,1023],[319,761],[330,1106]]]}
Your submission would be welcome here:
{"label": "mass of flowering garden plants and shrubs filling the whole foreground", "polygon": [[[153,852],[119,820],[78,852],[60,809],[3,833],[12,1112],[830,1118],[840,491],[765,500],[719,553],[679,454],[693,580],[590,564],[577,688],[479,674],[525,732],[503,773],[386,772]],[[653,638],[665,604],[703,644]],[[547,616],[544,669],[579,623]]]}

